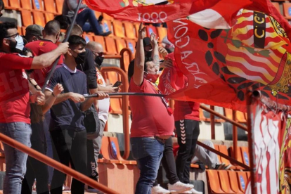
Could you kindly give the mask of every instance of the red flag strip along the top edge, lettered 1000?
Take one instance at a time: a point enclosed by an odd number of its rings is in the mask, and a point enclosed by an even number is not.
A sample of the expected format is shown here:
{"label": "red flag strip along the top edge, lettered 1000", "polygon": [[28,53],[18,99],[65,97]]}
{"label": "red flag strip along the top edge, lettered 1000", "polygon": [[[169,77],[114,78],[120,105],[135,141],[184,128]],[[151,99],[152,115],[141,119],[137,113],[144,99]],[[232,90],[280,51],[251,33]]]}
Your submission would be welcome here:
{"label": "red flag strip along the top edge, lettered 1000", "polygon": [[[228,11],[238,11],[252,4],[251,0],[86,0],[96,11],[107,13],[114,18],[135,22],[161,23],[224,4]],[[226,18],[227,22],[231,22]]]}

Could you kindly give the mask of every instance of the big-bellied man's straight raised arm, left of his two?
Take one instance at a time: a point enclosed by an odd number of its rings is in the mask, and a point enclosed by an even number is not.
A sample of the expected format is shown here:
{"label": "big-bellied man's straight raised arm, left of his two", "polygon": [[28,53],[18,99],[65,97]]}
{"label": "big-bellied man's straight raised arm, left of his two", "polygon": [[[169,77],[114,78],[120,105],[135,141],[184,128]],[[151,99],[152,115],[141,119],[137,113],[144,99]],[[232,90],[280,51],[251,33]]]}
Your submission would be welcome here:
{"label": "big-bellied man's straight raised arm, left of his two", "polygon": [[141,86],[143,83],[143,71],[145,65],[145,51],[143,48],[143,38],[145,37],[145,27],[143,24],[139,25],[138,29],[138,41],[136,44],[136,56],[134,60],[134,83],[138,86]]}

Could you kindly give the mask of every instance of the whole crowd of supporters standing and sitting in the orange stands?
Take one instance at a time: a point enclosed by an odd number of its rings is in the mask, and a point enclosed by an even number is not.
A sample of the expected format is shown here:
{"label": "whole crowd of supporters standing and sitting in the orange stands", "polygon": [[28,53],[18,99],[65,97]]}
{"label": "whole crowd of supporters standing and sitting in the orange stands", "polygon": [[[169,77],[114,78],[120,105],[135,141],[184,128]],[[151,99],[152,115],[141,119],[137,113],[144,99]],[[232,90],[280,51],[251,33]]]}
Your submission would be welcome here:
{"label": "whole crowd of supporters standing and sitting in the orange stands", "polygon": [[[76,7],[77,1],[64,1],[63,16],[70,22]],[[0,11],[3,9],[0,1]],[[96,181],[96,160],[110,108],[108,93],[119,91],[119,86],[105,84],[101,74],[103,46],[82,38],[83,31],[111,34],[103,32],[101,20],[82,5],[77,24],[71,24],[71,33],[65,34],[67,42],[59,44],[58,20],[47,22],[44,28],[30,25],[24,37],[13,22],[0,23],[0,132]],[[162,94],[160,72],[176,63],[166,58],[174,52],[174,45],[167,37],[162,45],[164,48],[158,46],[154,33],[145,37],[145,27],[140,25],[135,59],[128,70],[130,92]],[[160,61],[160,56],[164,60]],[[57,66],[52,70],[55,60]],[[187,78],[181,79],[186,87]],[[96,97],[86,98],[89,94]],[[129,104],[131,153],[141,171],[136,193],[201,193],[190,184],[191,161],[200,160],[212,169],[229,168],[220,164],[216,155],[196,146],[199,103],[177,101],[174,112],[163,97],[130,96]],[[179,147],[176,159],[173,140]],[[62,193],[65,174],[5,143],[4,152],[4,193],[32,193],[34,181],[37,193]],[[167,189],[156,180],[160,163],[169,179]],[[70,189],[84,193],[85,185],[72,179]],[[88,186],[86,190],[97,192]]]}

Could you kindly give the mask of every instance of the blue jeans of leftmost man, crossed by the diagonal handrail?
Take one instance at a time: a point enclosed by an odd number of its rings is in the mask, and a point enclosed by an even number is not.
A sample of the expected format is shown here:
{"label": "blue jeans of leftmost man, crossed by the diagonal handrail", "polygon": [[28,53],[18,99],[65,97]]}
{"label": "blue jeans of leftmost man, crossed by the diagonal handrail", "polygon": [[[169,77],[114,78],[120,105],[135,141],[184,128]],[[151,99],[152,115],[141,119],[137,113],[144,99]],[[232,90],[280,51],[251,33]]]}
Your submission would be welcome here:
{"label": "blue jeans of leftmost man, crossed by the diagonal handrail", "polygon": [[[30,124],[24,122],[0,123],[0,133],[13,138],[15,141],[31,146],[30,136],[32,129]],[[12,148],[4,143],[6,162],[6,176],[4,178],[3,193],[21,193],[22,179],[26,172],[27,154]]]}

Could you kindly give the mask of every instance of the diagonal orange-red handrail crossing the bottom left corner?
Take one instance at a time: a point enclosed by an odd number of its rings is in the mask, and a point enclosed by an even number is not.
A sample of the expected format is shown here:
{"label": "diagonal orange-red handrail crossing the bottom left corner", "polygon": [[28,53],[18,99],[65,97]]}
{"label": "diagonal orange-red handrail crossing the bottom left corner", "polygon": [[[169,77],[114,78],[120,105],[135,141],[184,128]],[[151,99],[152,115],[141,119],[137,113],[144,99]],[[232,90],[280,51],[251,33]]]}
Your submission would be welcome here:
{"label": "diagonal orange-red handrail crossing the bottom left corner", "polygon": [[82,173],[79,173],[79,172],[75,171],[74,169],[71,169],[70,167],[65,166],[64,164],[61,164],[60,162],[51,159],[51,157],[48,157],[42,153],[39,153],[37,150],[29,148],[26,145],[24,145],[18,141],[15,141],[13,138],[10,138],[10,137],[0,133],[0,141],[3,141],[7,145],[10,145],[12,148],[20,150],[22,153],[27,153],[27,155],[30,155],[30,157],[33,157],[36,160],[44,162],[45,164],[48,164],[49,166],[53,167],[54,169],[57,169],[60,172],[68,174],[68,175],[72,176],[74,179],[77,179],[78,181],[81,181],[81,182],[83,182],[83,183],[85,183],[93,188],[101,190],[105,193],[117,194],[117,192],[115,190],[112,190],[106,186],[103,186],[101,183],[98,183],[98,181],[95,181],[95,180],[89,178],[88,176],[86,176]]}

